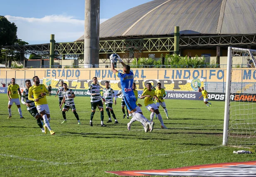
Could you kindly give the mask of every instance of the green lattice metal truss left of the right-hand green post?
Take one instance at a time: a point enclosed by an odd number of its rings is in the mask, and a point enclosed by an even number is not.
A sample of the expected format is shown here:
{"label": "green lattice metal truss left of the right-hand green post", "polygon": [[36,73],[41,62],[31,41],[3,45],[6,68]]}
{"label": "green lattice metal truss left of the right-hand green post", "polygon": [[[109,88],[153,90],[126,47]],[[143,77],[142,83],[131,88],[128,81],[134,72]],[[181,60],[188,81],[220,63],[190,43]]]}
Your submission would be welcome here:
{"label": "green lattice metal truss left of the right-hand green post", "polygon": [[[10,50],[24,53],[36,53],[47,55],[50,52],[49,44],[5,46]],[[144,38],[124,40],[102,40],[100,41],[100,54],[125,53],[127,51],[143,52],[172,52],[174,49],[174,37],[170,38]],[[55,54],[83,54],[84,42],[59,42],[55,43]]]}

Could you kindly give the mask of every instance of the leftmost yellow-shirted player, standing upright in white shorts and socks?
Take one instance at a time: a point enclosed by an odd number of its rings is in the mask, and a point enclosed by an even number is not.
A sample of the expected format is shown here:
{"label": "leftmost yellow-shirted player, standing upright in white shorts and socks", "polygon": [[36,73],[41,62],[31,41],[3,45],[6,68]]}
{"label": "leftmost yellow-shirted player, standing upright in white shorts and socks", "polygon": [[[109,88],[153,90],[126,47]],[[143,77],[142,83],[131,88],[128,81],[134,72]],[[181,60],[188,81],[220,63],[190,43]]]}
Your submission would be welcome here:
{"label": "leftmost yellow-shirted player, standing upright in white shorts and socks", "polygon": [[[24,119],[24,117],[22,116],[22,111],[20,108],[20,99],[21,99],[21,92],[20,92],[20,86],[18,84],[15,84],[15,78],[12,78],[11,83],[8,88],[7,88],[7,96],[9,99],[8,102],[8,112],[9,112],[9,116],[8,118],[12,117],[12,104],[15,103],[18,111],[20,113],[20,118]],[[19,94],[20,94],[20,99],[19,99]]]}

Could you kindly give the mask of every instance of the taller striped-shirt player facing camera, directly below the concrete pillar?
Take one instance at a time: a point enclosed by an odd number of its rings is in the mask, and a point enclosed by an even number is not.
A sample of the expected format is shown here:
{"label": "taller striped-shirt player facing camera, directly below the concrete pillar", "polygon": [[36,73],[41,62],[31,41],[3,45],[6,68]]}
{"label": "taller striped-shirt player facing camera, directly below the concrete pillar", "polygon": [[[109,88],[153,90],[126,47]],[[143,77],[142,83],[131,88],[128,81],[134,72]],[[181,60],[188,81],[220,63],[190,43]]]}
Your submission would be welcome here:
{"label": "taller striped-shirt player facing camera, directly below the concrete pillar", "polygon": [[103,110],[103,104],[102,101],[105,101],[104,98],[100,95],[100,85],[98,84],[98,79],[97,77],[93,78],[93,83],[89,86],[89,89],[87,91],[87,94],[91,96],[91,108],[92,108],[92,113],[90,116],[90,126],[93,126],[93,116],[95,114],[96,108],[100,110],[100,123],[101,127],[106,127],[106,125],[103,123],[104,120],[104,110]]}

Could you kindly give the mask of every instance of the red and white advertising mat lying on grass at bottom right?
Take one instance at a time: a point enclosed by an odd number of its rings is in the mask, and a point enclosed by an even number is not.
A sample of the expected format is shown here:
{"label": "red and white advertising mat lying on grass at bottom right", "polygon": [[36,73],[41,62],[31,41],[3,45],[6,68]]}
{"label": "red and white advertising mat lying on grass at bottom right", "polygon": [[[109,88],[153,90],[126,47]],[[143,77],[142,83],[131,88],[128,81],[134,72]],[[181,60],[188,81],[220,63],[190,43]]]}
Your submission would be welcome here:
{"label": "red and white advertising mat lying on grass at bottom right", "polygon": [[256,161],[219,163],[209,165],[196,165],[165,170],[137,170],[137,171],[105,171],[119,176],[211,176],[211,177],[251,177],[255,174]]}

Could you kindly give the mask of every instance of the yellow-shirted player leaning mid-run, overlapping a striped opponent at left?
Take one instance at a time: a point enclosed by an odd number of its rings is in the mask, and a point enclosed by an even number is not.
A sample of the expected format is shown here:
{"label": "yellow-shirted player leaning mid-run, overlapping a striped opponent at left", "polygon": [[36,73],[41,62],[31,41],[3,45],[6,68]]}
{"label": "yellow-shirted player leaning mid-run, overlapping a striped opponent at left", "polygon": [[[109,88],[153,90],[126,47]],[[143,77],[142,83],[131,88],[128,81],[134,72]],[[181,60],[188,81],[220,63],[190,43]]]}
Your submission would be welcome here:
{"label": "yellow-shirted player leaning mid-run, overlapping a striped opponent at left", "polygon": [[[51,135],[54,135],[55,132],[51,130],[49,121],[50,110],[47,103],[46,95],[49,95],[48,90],[44,84],[40,84],[40,80],[37,76],[33,77],[34,85],[29,88],[28,99],[34,101],[37,111],[41,114],[44,119],[44,133],[47,133],[47,129],[50,131]],[[48,121],[49,120],[49,121]]]}

